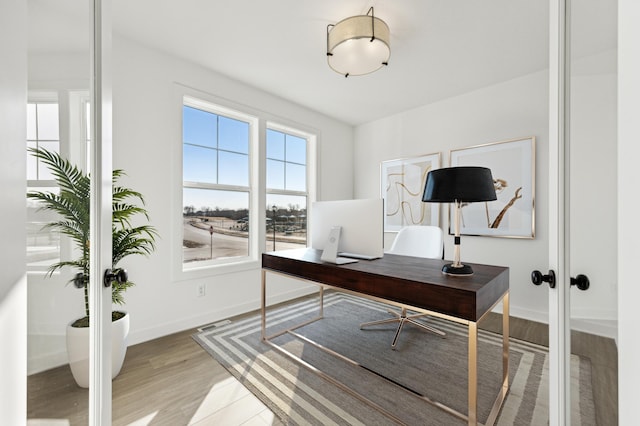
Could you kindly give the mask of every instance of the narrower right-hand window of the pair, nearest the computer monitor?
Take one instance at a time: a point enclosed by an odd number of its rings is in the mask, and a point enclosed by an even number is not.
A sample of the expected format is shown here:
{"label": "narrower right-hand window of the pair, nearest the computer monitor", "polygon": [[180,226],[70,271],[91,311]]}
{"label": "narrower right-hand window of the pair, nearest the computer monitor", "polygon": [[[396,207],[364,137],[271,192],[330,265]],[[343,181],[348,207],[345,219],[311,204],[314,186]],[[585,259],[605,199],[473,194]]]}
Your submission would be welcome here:
{"label": "narrower right-hand window of the pair, nearest the computer monitor", "polygon": [[266,250],[307,245],[308,135],[267,128]]}

